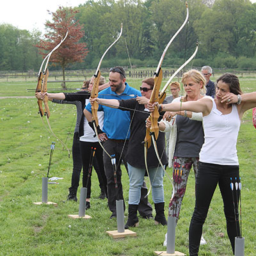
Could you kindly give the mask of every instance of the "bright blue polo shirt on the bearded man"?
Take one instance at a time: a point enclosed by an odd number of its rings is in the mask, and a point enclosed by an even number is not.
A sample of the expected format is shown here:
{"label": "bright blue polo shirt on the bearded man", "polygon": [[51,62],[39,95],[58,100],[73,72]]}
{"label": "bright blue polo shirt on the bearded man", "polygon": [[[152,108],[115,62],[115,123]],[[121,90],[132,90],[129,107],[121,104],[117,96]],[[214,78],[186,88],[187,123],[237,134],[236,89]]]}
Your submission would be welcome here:
{"label": "bright blue polo shirt on the bearded man", "polygon": [[[141,96],[140,91],[130,87],[127,83],[125,83],[125,90],[121,95],[116,94],[116,92],[112,92],[110,87],[99,92],[99,98],[102,99],[126,100],[136,98],[137,96]],[[92,113],[92,106],[90,103],[86,106],[86,110]],[[131,116],[129,111],[109,108],[103,105],[99,105],[98,111],[104,111],[104,123],[102,131],[107,134],[109,139],[125,140],[126,138],[130,138],[129,126]]]}

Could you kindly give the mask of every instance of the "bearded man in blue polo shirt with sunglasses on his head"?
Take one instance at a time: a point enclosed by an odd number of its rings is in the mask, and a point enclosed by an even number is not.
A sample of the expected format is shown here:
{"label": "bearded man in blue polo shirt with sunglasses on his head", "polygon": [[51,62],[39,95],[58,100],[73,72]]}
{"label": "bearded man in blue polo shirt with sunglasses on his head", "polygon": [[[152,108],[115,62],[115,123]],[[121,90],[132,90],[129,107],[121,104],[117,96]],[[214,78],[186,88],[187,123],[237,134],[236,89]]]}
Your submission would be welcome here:
{"label": "bearded man in blue polo shirt with sunglasses on his head", "polygon": [[[103,99],[130,99],[137,96],[141,96],[141,93],[130,87],[125,79],[125,70],[122,67],[114,67],[109,72],[109,87],[99,92],[99,98]],[[84,109],[84,115],[88,119],[88,122],[92,121],[92,106],[88,104]],[[116,108],[109,108],[108,106],[99,105],[98,111],[104,111],[104,124],[103,132],[100,134],[100,140],[104,142],[104,148],[110,156],[116,157],[116,176],[118,184],[118,197],[120,200],[124,200],[122,189],[122,170],[120,164],[122,161],[127,167],[126,152],[128,147],[128,140],[130,137],[130,122],[132,116],[129,111],[122,111]],[[103,161],[106,177],[108,180],[108,206],[112,212],[110,218],[116,217],[116,191],[113,166],[111,164],[110,157],[103,152]],[[139,212],[144,218],[152,218],[152,206],[148,203],[147,188],[141,189],[141,202],[139,205]]]}

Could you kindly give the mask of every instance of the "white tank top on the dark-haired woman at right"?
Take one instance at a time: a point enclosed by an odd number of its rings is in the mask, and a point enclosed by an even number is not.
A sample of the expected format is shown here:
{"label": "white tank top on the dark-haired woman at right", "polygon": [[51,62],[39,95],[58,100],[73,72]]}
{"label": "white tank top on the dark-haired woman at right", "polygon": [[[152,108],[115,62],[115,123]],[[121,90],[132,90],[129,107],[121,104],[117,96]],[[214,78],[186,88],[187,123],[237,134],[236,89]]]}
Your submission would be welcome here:
{"label": "white tank top on the dark-haired woman at right", "polygon": [[231,113],[223,115],[216,108],[214,99],[207,98],[212,100],[212,110],[209,115],[203,117],[205,139],[199,154],[200,162],[238,165],[236,143],[241,120],[237,105],[232,104]]}

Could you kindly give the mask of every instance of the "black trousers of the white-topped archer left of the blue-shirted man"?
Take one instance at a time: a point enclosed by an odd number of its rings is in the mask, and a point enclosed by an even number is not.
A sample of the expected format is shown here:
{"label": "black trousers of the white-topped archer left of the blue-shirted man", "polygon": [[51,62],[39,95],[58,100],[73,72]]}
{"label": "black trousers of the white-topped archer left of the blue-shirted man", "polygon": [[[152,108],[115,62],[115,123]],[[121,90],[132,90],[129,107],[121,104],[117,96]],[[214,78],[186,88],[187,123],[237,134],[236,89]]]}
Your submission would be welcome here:
{"label": "black trousers of the white-topped archer left of the blue-shirted man", "polygon": [[95,157],[93,159],[93,167],[97,172],[100,188],[106,191],[107,179],[104,173],[102,147],[100,147],[99,142],[80,141],[79,145],[83,162],[83,187],[87,188],[87,198],[90,198],[92,181],[91,176],[88,179],[88,170],[90,164],[90,156],[92,154],[92,147],[96,148]]}

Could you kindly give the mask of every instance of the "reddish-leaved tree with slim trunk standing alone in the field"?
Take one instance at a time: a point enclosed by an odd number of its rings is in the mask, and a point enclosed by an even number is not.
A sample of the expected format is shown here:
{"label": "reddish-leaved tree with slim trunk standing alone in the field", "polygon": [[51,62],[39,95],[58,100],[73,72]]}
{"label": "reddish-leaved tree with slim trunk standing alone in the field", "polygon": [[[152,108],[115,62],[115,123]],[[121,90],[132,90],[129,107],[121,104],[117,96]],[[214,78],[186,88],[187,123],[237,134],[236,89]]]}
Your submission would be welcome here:
{"label": "reddish-leaved tree with slim trunk standing alone in the field", "polygon": [[65,68],[70,63],[84,61],[83,59],[88,54],[86,43],[79,43],[79,40],[84,36],[84,31],[81,24],[75,19],[77,12],[79,11],[63,7],[60,7],[56,12],[52,12],[53,22],[47,21],[45,24],[47,27],[46,40],[41,40],[40,44],[36,45],[36,47],[44,50],[40,51],[40,54],[46,56],[49,51],[60,43],[61,38],[64,38],[68,30],[66,40],[52,53],[50,60],[52,63],[59,63],[62,68],[64,83],[61,85],[63,88],[66,88]]}

